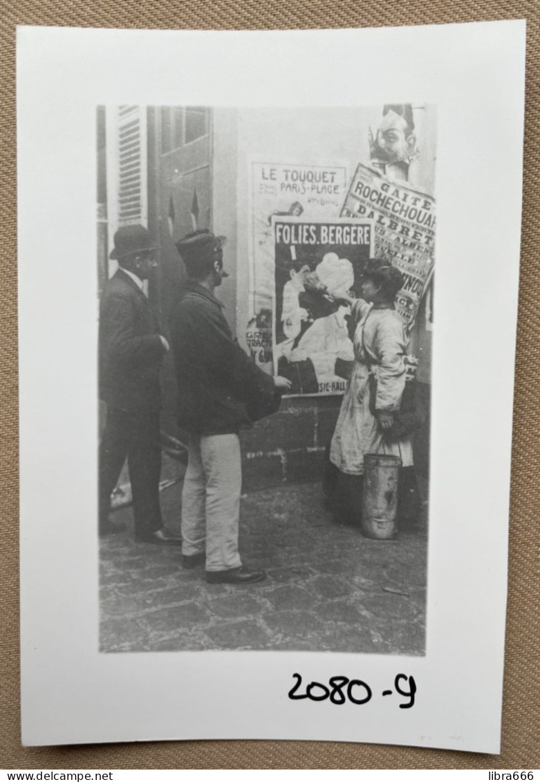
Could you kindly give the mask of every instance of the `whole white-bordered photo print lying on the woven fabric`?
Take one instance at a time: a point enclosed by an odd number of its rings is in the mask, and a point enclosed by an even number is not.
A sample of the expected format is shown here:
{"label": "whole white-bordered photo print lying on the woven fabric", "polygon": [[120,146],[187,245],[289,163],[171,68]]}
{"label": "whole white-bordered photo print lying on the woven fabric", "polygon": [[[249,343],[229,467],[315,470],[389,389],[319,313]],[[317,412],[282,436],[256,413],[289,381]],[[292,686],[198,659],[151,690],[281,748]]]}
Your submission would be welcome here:
{"label": "whole white-bordered photo print lying on the woven fabric", "polygon": [[499,752],[524,41],[20,28],[24,744]]}

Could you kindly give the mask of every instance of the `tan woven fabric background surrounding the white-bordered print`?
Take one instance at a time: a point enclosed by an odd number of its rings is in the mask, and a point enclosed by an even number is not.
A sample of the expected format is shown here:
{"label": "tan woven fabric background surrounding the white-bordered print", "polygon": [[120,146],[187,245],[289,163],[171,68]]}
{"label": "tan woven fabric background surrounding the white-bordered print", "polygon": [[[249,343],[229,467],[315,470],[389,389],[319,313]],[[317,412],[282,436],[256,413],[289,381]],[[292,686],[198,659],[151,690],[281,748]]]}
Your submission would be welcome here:
{"label": "tan woven fabric background surrounding the white-bordered print", "polygon": [[[0,766],[5,769],[531,769],[540,766],[540,4],[537,0],[2,0],[2,549]],[[67,748],[20,745],[16,333],[15,26],[375,27],[526,18],[527,111],[523,243],[510,515],[510,592],[502,755],[370,744],[201,741]],[[481,100],[481,95],[478,96]],[[502,107],[504,109],[504,107]],[[37,120],[38,121],[38,120]],[[474,137],[488,128],[471,128]],[[479,139],[476,138],[476,143]],[[494,421],[496,436],[496,421]],[[488,541],[486,541],[488,543]],[[463,541],[467,545],[467,541]],[[456,570],[457,573],[457,570]],[[481,625],[482,618],[478,617]],[[449,682],[451,681],[451,676]],[[449,684],[451,686],[451,684]],[[182,693],[178,693],[181,704]]]}

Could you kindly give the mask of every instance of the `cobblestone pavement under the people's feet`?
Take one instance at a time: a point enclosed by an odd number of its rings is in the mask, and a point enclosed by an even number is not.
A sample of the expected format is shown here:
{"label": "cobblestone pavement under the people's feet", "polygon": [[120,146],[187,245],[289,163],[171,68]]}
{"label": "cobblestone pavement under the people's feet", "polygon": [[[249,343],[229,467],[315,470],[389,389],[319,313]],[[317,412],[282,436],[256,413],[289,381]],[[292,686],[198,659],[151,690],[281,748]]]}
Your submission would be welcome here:
{"label": "cobblestone pavement under the people's feet", "polygon": [[[178,529],[181,482],[163,491]],[[242,497],[240,551],[261,583],[207,584],[179,547],[135,543],[130,529],[100,541],[101,651],[265,649],[424,654],[427,522],[392,541],[334,521],[320,484]]]}

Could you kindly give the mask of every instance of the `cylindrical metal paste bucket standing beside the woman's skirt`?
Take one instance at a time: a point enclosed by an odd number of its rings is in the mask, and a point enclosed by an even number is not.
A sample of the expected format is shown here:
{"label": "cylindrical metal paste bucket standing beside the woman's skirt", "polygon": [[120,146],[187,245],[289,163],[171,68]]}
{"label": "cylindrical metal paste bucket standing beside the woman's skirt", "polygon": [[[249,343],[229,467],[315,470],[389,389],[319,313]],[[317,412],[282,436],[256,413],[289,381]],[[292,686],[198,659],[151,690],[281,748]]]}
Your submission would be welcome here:
{"label": "cylindrical metal paste bucket standing beside the woman's skirt", "polygon": [[362,523],[366,537],[391,540],[397,533],[399,468],[402,461],[388,454],[363,457]]}

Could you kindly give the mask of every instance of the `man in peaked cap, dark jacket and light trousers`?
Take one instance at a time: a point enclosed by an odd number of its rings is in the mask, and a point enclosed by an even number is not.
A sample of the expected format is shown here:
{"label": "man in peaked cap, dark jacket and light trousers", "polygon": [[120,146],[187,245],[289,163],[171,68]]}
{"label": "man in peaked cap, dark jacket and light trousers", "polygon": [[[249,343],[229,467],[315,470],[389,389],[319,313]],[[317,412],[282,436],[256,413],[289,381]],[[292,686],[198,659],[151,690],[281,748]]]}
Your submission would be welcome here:
{"label": "man in peaked cap, dark jacket and light trousers", "polygon": [[266,375],[241,350],[225,320],[224,305],[214,296],[228,276],[223,267],[225,241],[199,230],[177,242],[189,276],[171,322],[178,423],[189,433],[182,561],[184,567],[206,562],[208,583],[245,584],[266,574],[245,568],[238,554],[238,432],[250,423],[249,409],[265,400],[271,405],[290,383]]}

